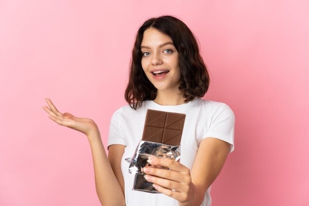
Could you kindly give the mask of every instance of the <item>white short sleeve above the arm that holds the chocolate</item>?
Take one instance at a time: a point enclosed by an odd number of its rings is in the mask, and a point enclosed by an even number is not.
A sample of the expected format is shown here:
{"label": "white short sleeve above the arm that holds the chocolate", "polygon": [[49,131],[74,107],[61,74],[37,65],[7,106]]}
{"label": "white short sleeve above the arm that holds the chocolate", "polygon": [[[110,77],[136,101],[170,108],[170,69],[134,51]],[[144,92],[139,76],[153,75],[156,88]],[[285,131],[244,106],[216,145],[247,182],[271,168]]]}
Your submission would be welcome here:
{"label": "white short sleeve above the arm that holds the chocolate", "polygon": [[231,144],[230,152],[234,150],[235,116],[232,109],[223,104],[214,113],[205,137],[214,137]]}

